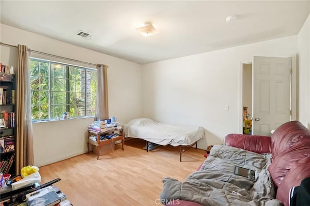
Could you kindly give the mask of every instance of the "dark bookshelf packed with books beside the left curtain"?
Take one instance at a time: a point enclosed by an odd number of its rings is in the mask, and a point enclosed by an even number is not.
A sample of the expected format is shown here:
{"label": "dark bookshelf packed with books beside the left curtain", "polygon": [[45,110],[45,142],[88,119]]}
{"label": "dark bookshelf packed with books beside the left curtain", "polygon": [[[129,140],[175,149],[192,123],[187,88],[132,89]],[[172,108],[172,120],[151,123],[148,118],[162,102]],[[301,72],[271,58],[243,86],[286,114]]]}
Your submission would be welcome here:
{"label": "dark bookshelf packed with books beside the left curtain", "polygon": [[16,175],[15,74],[0,73],[0,172]]}

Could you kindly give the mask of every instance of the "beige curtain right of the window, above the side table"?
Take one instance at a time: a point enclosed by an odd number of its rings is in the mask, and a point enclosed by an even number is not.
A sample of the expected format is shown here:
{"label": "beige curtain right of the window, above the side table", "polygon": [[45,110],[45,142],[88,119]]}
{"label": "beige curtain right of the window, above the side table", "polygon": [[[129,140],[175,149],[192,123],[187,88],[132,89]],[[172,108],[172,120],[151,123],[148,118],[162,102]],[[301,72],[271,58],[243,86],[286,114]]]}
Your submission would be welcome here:
{"label": "beige curtain right of the window, above the side table", "polygon": [[94,120],[109,118],[107,74],[107,65],[97,64],[97,96]]}

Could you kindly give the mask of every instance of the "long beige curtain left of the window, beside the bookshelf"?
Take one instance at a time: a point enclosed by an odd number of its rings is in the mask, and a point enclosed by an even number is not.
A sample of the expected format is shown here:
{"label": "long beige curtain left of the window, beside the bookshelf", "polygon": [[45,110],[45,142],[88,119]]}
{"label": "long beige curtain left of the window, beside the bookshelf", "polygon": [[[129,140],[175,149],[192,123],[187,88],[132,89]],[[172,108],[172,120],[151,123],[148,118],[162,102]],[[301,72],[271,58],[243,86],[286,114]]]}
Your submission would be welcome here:
{"label": "long beige curtain left of the window, beside the bookshelf", "polygon": [[16,81],[16,174],[21,168],[33,165],[33,133],[30,94],[30,49],[18,45]]}

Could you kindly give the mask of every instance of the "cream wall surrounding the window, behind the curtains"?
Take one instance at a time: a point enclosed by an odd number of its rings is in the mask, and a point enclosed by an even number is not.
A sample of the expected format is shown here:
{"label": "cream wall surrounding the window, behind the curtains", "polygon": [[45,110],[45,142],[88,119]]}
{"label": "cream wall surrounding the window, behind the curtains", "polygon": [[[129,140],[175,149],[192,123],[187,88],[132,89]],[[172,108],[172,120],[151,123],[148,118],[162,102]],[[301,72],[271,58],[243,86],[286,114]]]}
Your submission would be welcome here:
{"label": "cream wall surrounding the window, behind the curtains", "polygon": [[[32,50],[94,64],[103,63],[108,65],[109,115],[113,114],[123,122],[141,117],[142,66],[140,64],[66,44],[4,24],[0,25],[0,29],[0,41],[2,43],[24,44]],[[17,49],[1,46],[0,51],[0,62],[17,68]],[[31,57],[91,67],[63,59],[38,55],[34,52],[31,53]],[[86,129],[92,121],[92,118],[84,118],[34,123],[34,164],[42,166],[86,152]]]}

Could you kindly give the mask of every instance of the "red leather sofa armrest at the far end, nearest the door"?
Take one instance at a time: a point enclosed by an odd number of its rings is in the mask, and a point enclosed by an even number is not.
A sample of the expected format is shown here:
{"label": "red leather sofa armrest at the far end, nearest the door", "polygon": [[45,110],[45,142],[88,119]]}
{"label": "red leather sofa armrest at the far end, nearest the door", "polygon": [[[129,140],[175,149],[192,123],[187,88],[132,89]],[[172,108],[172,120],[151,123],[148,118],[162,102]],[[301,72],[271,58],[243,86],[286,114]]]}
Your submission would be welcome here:
{"label": "red leather sofa armrest at the far end, nearest the door", "polygon": [[228,134],[224,143],[227,146],[245,149],[259,154],[270,153],[271,138],[269,136]]}

